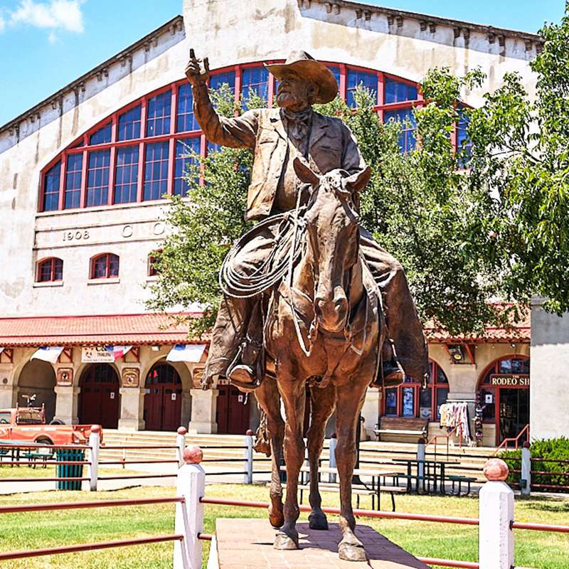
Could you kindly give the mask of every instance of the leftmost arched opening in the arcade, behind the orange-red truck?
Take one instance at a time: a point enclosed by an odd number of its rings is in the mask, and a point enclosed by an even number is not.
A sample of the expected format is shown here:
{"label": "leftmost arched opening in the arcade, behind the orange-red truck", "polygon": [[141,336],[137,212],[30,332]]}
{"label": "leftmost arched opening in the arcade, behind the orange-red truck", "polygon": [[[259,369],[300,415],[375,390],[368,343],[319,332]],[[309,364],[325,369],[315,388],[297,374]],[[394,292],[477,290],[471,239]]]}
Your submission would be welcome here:
{"label": "leftmost arched opening in the arcade, behind the orange-red truck", "polygon": [[46,421],[55,415],[55,371],[47,361],[32,360],[23,366],[18,380],[18,405],[27,407],[28,400],[23,395],[36,395],[33,407],[46,405]]}

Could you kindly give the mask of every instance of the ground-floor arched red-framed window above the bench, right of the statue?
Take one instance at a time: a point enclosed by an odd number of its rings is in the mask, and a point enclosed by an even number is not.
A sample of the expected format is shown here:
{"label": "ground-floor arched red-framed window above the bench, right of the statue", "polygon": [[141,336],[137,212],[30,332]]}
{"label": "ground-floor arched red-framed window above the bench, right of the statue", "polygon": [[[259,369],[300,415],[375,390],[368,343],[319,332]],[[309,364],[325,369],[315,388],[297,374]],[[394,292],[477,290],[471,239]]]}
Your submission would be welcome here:
{"label": "ground-floor arched red-framed window above the bench, right of the statue", "polygon": [[432,421],[440,418],[439,408],[447,402],[449,381],[438,363],[430,360],[429,366],[429,383],[426,388],[415,379],[406,377],[398,387],[385,389],[381,415],[420,417]]}

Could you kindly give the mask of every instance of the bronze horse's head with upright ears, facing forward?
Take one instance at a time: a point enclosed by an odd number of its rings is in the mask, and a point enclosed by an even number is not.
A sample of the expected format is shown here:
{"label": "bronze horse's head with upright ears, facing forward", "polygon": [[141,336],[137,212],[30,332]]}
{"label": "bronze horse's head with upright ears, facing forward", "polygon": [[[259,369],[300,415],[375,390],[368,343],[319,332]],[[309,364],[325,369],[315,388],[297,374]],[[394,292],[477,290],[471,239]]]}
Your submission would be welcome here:
{"label": "bronze horse's head with upright ears, facing forward", "polygon": [[366,166],[351,175],[336,169],[319,176],[296,158],[294,171],[313,188],[304,220],[317,326],[328,332],[346,330],[351,269],[358,262],[358,192],[368,184],[371,169]]}

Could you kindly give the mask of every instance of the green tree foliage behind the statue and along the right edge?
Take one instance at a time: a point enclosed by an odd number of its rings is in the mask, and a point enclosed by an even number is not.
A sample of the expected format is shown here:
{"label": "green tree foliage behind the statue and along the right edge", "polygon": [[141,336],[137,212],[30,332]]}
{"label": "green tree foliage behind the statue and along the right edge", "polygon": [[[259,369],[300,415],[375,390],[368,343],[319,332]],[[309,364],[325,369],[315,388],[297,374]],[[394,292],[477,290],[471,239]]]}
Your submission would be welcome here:
{"label": "green tree foliage behind the statue and along the right edge", "polygon": [[[515,320],[533,294],[548,297],[556,312],[569,309],[569,6],[561,23],[541,34],[543,50],[531,62],[538,78],[533,100],[509,73],[481,107],[467,107],[462,95],[481,87],[484,73],[455,77],[439,68],[422,82],[416,126],[382,124],[363,89],[355,111],[339,98],[316,106],[348,124],[373,169],[362,224],[400,260],[422,319],[452,333]],[[212,97],[226,116],[265,104],[253,96],[235,108],[227,86]],[[458,123],[467,136],[454,149]],[[403,129],[412,127],[417,144],[402,153]],[[248,228],[252,154],[223,149],[193,160],[189,200],[174,198],[166,213],[172,233],[149,308],[198,302],[206,315],[193,321],[196,333],[213,324],[218,269]]]}

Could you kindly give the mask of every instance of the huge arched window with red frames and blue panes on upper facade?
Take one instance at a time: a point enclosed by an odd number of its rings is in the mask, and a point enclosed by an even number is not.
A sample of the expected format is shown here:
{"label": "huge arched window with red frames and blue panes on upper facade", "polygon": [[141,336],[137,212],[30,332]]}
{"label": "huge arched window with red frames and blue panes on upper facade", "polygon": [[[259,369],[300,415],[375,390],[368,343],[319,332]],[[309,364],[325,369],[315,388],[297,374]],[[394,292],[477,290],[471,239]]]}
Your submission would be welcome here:
{"label": "huge arched window with red frames and blue panes on upper facade", "polygon": [[[267,63],[277,63],[267,62]],[[358,85],[373,93],[384,122],[410,119],[400,135],[400,148],[415,147],[414,106],[423,104],[417,83],[343,63],[326,63],[334,73],[340,96],[355,106]],[[272,107],[278,83],[262,63],[232,65],[211,73],[209,85],[227,84],[235,100],[255,93]],[[462,126],[462,125],[461,125]],[[461,131],[462,132],[462,131]],[[453,134],[454,143],[461,137]],[[211,145],[209,150],[215,150]],[[39,211],[56,211],[186,196],[189,151],[206,154],[208,144],[193,115],[187,80],[135,100],[75,140],[43,169]]]}

